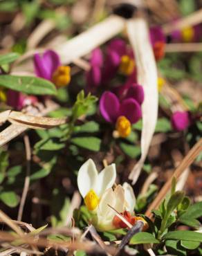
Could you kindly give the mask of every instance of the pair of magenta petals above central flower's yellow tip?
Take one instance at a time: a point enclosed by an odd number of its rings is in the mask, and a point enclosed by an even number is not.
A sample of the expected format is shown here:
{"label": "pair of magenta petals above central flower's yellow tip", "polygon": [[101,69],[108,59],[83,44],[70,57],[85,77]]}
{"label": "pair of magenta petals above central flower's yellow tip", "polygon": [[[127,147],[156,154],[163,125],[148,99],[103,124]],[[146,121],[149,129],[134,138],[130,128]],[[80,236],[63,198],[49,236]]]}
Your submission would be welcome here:
{"label": "pair of magenta petals above central flower's yellow tip", "polygon": [[114,93],[106,91],[100,98],[100,113],[107,122],[115,123],[118,117],[125,116],[131,124],[142,117],[140,104],[134,98],[120,100]]}

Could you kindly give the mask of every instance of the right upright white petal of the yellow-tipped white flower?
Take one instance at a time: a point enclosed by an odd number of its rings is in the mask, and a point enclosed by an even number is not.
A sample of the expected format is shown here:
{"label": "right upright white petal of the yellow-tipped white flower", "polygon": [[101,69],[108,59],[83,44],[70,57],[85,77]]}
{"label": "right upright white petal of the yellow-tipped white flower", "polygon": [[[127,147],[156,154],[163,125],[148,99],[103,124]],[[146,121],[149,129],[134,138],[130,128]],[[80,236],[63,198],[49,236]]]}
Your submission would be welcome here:
{"label": "right upright white petal of the yellow-tipped white flower", "polygon": [[100,174],[98,174],[98,184],[95,192],[101,196],[105,190],[111,188],[116,181],[116,165],[113,163],[105,167]]}

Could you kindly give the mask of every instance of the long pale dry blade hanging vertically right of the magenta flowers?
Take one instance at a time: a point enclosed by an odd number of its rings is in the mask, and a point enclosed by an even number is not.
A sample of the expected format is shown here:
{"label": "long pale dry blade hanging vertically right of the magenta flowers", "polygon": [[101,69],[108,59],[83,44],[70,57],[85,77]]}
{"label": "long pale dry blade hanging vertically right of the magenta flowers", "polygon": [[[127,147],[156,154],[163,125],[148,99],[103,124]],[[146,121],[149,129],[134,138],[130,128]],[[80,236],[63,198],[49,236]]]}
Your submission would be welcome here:
{"label": "long pale dry blade hanging vertically right of the magenta flowers", "polygon": [[[127,22],[129,40],[136,56],[138,84],[143,85],[145,100],[143,102],[143,130],[141,136],[141,158],[131,171],[129,179],[136,183],[143,167],[149,145],[154,134],[158,116],[157,70],[149,33],[144,19],[131,19]],[[151,96],[152,95],[152,96]]]}

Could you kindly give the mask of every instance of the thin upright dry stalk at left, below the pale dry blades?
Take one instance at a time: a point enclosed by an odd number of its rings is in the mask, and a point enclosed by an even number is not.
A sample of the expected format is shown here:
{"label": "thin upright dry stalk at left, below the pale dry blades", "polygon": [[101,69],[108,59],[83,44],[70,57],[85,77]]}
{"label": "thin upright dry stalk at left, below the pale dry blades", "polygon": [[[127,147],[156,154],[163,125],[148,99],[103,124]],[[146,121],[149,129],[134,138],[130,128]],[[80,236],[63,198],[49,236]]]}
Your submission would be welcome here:
{"label": "thin upright dry stalk at left, below the pale dry blades", "polygon": [[28,194],[29,186],[30,186],[30,160],[31,160],[31,148],[30,148],[30,140],[28,135],[24,136],[24,145],[26,149],[26,178],[24,181],[24,189],[21,195],[21,201],[19,204],[19,212],[17,215],[17,220],[21,221],[24,205],[26,202],[26,197]]}

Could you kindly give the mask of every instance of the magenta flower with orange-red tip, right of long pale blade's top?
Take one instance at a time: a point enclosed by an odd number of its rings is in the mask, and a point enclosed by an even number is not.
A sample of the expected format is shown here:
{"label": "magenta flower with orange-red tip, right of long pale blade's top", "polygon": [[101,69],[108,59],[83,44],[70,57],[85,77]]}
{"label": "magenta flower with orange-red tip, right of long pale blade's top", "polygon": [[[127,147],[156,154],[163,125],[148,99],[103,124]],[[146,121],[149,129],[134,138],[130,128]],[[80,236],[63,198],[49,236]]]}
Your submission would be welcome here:
{"label": "magenta flower with orange-red tip, right of long pale blade's top", "polygon": [[156,60],[163,58],[165,54],[165,35],[162,28],[154,26],[149,30],[151,44],[154,50],[154,56]]}

